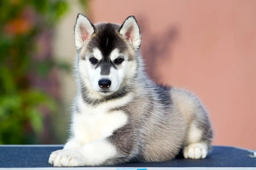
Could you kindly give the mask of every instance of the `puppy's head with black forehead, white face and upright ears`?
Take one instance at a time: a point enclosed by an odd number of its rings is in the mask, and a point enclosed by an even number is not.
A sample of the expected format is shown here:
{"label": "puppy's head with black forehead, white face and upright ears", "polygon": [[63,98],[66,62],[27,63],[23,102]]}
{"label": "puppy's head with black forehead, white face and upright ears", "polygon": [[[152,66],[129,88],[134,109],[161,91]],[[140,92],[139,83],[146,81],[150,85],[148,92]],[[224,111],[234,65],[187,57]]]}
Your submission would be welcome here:
{"label": "puppy's head with black forehead, white face and upright ears", "polygon": [[134,16],[120,26],[93,25],[78,14],[75,25],[79,75],[89,91],[108,96],[120,91],[136,74],[136,53],[140,50],[140,28]]}

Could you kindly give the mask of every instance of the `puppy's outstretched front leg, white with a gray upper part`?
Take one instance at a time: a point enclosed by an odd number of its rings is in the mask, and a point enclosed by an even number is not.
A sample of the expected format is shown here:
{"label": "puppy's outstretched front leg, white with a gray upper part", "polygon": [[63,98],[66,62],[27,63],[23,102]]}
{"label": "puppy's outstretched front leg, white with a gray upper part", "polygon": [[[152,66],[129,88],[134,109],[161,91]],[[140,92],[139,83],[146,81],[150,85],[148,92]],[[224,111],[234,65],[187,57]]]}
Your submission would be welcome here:
{"label": "puppy's outstretched front leg, white with a gray upper part", "polygon": [[127,124],[111,136],[84,144],[79,149],[57,150],[50,155],[49,164],[77,167],[125,163],[138,153],[138,134],[128,127],[131,125]]}

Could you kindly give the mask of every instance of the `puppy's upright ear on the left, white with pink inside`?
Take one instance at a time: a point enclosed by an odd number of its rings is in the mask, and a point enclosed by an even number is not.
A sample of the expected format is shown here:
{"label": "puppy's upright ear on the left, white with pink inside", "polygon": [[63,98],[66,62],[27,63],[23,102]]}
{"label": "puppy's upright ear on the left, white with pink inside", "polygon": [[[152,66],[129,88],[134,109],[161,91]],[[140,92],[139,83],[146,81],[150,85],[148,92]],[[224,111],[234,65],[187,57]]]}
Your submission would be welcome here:
{"label": "puppy's upright ear on the left, white with pink inside", "polygon": [[78,14],[75,25],[75,45],[76,48],[81,48],[86,40],[89,40],[95,31],[93,24],[83,14]]}

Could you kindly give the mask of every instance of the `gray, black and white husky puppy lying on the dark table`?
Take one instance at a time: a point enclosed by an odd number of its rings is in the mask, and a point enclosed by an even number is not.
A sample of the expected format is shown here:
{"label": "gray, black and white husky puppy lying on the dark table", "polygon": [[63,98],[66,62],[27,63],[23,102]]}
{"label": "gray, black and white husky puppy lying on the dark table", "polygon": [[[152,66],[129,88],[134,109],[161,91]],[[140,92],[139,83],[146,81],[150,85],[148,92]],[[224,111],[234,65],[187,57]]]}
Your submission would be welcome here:
{"label": "gray, black and white husky puppy lying on the dark table", "polygon": [[134,16],[120,26],[76,19],[77,95],[71,136],[52,152],[56,167],[168,161],[182,151],[204,159],[212,141],[207,111],[188,91],[157,85],[145,74]]}

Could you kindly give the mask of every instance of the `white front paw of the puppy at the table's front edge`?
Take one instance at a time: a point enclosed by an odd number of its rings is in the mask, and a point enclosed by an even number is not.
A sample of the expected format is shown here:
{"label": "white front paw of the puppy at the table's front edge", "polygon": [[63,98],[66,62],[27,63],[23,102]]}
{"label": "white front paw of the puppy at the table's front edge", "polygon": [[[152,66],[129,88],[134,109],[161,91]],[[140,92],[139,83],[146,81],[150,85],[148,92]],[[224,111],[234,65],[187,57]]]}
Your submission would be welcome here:
{"label": "white front paw of the puppy at the table's front edge", "polygon": [[56,150],[48,162],[55,167],[80,167],[84,166],[85,160],[78,150]]}

